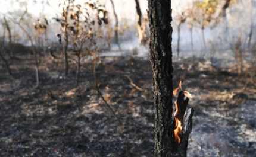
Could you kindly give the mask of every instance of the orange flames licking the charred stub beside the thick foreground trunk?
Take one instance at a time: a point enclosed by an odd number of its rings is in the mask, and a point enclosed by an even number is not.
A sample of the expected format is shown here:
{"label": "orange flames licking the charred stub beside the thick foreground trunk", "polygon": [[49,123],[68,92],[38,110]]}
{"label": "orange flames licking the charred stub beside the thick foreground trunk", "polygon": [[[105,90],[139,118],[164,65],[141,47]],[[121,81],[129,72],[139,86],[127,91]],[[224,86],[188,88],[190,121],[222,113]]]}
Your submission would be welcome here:
{"label": "orange flames licking the charred stub beside the thick foreground trunk", "polygon": [[[180,81],[179,86],[173,90],[174,96],[177,95],[179,89],[182,90],[182,81]],[[183,94],[187,98],[192,98],[192,95],[188,91],[183,91]],[[177,101],[175,101],[174,104],[176,107],[176,111],[174,113],[174,120],[175,120],[174,137],[175,137],[175,141],[180,144],[181,139],[180,139],[179,135],[182,134],[182,119],[177,118],[177,114],[179,113],[179,107],[178,107]]]}

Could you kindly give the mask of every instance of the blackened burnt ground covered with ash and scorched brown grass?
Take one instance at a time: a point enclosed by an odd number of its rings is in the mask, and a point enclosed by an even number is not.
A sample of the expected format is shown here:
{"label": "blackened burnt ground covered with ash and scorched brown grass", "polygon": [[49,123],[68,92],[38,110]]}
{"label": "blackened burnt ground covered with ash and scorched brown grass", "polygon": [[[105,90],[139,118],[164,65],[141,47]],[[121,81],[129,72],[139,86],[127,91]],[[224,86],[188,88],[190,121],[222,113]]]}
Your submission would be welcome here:
{"label": "blackened burnt ground covered with ash and scorched brown grass", "polygon": [[[35,88],[33,56],[18,58],[9,60],[12,76],[1,60],[0,156],[154,156],[148,60],[101,57],[98,63],[99,89],[121,125],[95,90],[92,60],[82,63],[76,86],[72,59],[65,76],[63,60],[42,56]],[[236,75],[233,66],[214,68],[205,59],[173,60],[174,87],[182,79],[194,96],[188,156],[256,156],[254,77]]]}

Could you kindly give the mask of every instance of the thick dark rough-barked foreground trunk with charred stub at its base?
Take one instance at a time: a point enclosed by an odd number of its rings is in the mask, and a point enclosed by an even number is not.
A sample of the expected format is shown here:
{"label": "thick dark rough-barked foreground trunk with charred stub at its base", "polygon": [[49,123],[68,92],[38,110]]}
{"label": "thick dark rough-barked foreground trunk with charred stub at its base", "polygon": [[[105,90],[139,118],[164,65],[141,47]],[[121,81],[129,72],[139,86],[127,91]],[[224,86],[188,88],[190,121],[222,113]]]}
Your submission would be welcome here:
{"label": "thick dark rough-barked foreground trunk with charred stub at its base", "polygon": [[[171,3],[169,0],[148,0],[150,27],[150,60],[153,75],[155,106],[155,157],[186,156],[188,136],[192,130],[192,108],[179,114],[183,120],[181,142],[174,139],[175,123],[172,118],[173,66],[171,52]],[[178,104],[186,110],[188,98],[180,94]],[[185,98],[185,99],[184,99]],[[185,104],[186,103],[186,104]],[[183,105],[184,104],[184,105]],[[183,118],[184,117],[184,118]]]}

